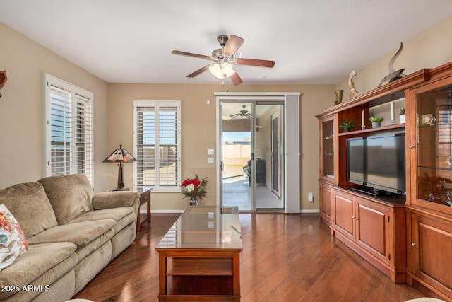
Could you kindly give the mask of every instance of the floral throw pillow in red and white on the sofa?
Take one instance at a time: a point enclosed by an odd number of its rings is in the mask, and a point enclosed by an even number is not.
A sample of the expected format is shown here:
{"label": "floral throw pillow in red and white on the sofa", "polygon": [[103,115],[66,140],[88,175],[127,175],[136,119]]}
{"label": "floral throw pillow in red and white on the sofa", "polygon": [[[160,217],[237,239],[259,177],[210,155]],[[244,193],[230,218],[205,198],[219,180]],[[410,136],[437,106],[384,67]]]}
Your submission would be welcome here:
{"label": "floral throw pillow in red and white on the sofa", "polygon": [[0,271],[26,250],[28,243],[22,228],[8,208],[0,204]]}

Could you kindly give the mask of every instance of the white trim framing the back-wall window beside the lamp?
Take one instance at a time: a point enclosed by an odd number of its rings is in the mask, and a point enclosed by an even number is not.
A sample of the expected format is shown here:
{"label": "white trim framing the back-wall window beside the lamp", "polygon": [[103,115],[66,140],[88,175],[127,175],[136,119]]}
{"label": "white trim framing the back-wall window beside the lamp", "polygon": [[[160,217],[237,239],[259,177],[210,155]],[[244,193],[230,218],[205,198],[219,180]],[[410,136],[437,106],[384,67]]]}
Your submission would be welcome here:
{"label": "white trim framing the back-wall window beside the lamp", "polygon": [[[138,154],[138,133],[136,131],[136,126],[138,122],[137,116],[137,107],[177,107],[177,185],[175,186],[161,186],[156,184],[153,186],[153,192],[181,192],[181,184],[182,184],[182,150],[181,150],[181,101],[180,100],[133,100],[133,155]],[[138,167],[137,162],[133,162],[133,186],[138,187]]]}

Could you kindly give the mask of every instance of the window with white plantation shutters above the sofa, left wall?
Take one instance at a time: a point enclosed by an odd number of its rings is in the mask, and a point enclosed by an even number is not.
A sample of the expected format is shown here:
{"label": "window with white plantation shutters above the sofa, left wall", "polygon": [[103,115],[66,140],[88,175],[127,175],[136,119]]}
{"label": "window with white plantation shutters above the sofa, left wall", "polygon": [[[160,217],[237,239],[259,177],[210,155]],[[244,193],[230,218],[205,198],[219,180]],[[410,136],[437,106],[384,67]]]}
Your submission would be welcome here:
{"label": "window with white plantation shutters above the sofa, left wall", "polygon": [[85,174],[93,184],[93,93],[44,75],[46,176]]}

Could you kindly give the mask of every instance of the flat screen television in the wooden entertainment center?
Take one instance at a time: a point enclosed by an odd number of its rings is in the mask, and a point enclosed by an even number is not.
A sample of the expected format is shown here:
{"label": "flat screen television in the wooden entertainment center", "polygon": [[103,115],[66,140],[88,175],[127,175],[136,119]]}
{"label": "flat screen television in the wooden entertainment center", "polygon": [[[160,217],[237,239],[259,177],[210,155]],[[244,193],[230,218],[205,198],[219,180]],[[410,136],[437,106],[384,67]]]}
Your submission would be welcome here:
{"label": "flat screen television in the wooden entertainment center", "polygon": [[406,194],[405,134],[347,139],[347,181],[369,194]]}

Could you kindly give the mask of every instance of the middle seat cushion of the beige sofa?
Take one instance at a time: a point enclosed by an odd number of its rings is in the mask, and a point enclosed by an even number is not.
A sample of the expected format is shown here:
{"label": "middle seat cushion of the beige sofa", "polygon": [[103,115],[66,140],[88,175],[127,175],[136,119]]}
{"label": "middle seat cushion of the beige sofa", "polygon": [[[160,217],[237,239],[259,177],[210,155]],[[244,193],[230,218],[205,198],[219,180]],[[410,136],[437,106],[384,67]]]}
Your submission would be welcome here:
{"label": "middle seat cushion of the beige sofa", "polygon": [[77,245],[78,261],[102,246],[114,235],[113,219],[84,221],[54,226],[28,239],[30,245],[38,243],[70,242]]}

